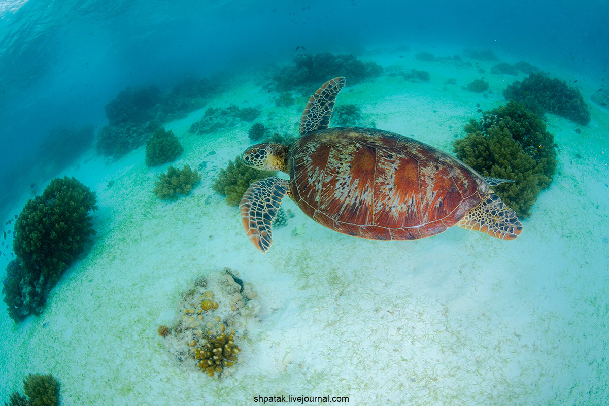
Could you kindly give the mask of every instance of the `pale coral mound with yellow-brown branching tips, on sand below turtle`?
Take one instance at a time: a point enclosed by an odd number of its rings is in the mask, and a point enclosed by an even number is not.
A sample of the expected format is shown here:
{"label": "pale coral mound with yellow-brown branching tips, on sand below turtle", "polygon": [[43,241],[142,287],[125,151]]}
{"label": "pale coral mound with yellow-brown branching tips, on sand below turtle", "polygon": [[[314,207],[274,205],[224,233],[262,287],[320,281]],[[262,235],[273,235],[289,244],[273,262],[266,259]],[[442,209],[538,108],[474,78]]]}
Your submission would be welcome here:
{"label": "pale coral mound with yellow-brown branching tips, on sand below turtle", "polygon": [[247,334],[248,320],[258,320],[258,293],[224,268],[197,276],[181,298],[170,326],[158,327],[166,351],[183,368],[228,376],[228,368],[238,363],[236,343]]}

